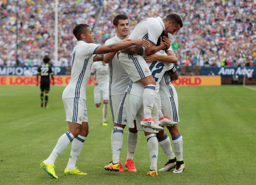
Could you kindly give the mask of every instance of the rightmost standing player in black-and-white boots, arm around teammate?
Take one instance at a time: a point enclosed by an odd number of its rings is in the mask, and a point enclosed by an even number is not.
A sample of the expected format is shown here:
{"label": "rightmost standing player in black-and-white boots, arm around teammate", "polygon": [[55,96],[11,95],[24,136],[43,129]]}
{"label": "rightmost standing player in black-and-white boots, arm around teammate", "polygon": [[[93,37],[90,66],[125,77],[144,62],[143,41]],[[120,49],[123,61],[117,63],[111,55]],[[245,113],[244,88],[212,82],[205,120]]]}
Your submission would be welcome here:
{"label": "rightmost standing player in black-and-white boots, arm around teammate", "polygon": [[[159,56],[156,54],[146,56],[144,57],[146,62],[152,62],[156,59],[160,59],[161,61],[166,61],[170,63],[177,63],[177,58],[175,54],[172,51],[172,48],[170,47],[167,52],[168,54],[168,60],[166,60],[167,56]],[[165,60],[164,58],[165,57]],[[164,125],[167,126],[167,129],[169,130],[171,136],[172,136],[172,142],[174,146],[175,153],[177,155],[177,159],[173,153],[171,141],[166,132],[160,131],[157,134],[157,139],[159,145],[162,147],[164,153],[168,157],[168,162],[165,164],[165,166],[158,171],[169,171],[172,168],[175,168],[173,170],[173,173],[181,173],[185,169],[185,165],[183,162],[183,141],[182,136],[179,132],[177,123],[180,121],[179,115],[178,115],[178,96],[176,89],[172,85],[171,81],[178,79],[178,73],[173,66],[173,69],[165,72],[164,77],[160,81],[160,89],[159,89],[159,95],[161,97],[161,101],[158,101],[158,109],[159,109],[159,118],[165,117],[170,119],[170,125]],[[159,125],[160,125],[160,119],[159,119]]]}

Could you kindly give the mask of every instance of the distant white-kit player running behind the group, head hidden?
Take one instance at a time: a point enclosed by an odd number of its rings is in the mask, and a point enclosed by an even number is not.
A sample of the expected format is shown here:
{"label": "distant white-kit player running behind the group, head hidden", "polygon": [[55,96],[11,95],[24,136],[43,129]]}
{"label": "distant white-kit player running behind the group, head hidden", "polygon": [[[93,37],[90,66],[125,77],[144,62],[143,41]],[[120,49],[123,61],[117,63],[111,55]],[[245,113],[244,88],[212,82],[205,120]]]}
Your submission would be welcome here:
{"label": "distant white-kit player running behind the group, head hidden", "polygon": [[104,61],[96,61],[92,64],[92,70],[90,79],[94,84],[93,97],[96,107],[100,107],[101,99],[103,100],[103,120],[102,125],[108,126],[108,86],[109,86],[109,75],[108,75],[108,64]]}

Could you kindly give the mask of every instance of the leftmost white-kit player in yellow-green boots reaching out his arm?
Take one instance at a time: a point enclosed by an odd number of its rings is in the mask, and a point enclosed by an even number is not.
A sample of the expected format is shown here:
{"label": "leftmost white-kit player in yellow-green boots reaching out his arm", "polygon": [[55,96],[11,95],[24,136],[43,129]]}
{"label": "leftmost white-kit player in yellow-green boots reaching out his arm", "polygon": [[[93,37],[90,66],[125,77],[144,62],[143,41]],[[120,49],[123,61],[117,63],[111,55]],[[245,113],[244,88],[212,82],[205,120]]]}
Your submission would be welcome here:
{"label": "leftmost white-kit player in yellow-green boots reaching out his arm", "polygon": [[40,167],[47,174],[56,179],[58,176],[55,174],[54,162],[73,140],[70,158],[64,174],[86,174],[76,168],[76,160],[89,133],[86,109],[86,86],[90,77],[94,54],[116,52],[134,44],[143,47],[149,46],[149,42],[145,39],[125,39],[123,42],[108,46],[99,46],[93,43],[94,34],[90,26],[86,24],[76,25],[73,29],[73,35],[78,41],[72,52],[71,79],[62,94],[69,129],[68,132],[59,138],[51,155],[40,164]]}

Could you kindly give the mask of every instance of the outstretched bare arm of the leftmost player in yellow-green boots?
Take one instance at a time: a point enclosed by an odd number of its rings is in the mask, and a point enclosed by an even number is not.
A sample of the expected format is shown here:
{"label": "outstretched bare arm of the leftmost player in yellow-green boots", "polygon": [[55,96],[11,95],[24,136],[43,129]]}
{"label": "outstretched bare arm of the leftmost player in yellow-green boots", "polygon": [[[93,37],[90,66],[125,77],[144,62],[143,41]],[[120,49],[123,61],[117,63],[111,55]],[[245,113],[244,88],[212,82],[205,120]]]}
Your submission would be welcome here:
{"label": "outstretched bare arm of the leftmost player in yellow-green boots", "polygon": [[107,46],[100,46],[95,50],[94,54],[117,52],[133,45],[143,46],[147,48],[150,46],[150,43],[145,39],[137,39],[137,40],[125,39],[122,42],[110,44]]}

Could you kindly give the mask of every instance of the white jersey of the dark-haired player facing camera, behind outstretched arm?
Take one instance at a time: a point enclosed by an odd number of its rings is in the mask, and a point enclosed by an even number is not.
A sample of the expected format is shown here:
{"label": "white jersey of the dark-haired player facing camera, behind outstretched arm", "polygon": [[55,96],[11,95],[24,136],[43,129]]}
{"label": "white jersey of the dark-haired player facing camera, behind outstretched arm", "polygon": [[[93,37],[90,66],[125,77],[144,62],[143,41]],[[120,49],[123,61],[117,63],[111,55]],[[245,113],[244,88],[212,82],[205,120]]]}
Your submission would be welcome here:
{"label": "white jersey of the dark-haired player facing camera, behind outstretched arm", "polygon": [[[114,44],[120,42],[121,39],[117,37],[117,35],[111,39],[108,39],[105,42],[105,45]],[[129,84],[130,78],[124,67],[117,59],[117,55],[108,63],[108,70],[109,70],[109,96],[112,95],[122,95],[127,89]]]}

